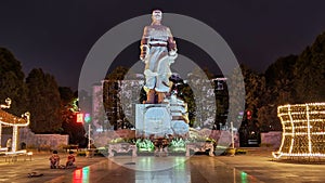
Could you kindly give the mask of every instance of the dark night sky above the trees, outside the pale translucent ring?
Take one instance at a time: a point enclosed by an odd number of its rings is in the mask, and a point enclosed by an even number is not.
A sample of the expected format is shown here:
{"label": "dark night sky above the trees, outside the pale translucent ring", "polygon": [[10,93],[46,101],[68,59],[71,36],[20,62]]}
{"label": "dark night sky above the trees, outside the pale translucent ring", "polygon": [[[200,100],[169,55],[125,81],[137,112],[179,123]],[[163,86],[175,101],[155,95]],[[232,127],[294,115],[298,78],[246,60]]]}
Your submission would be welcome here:
{"label": "dark night sky above the trees, outside the pale translucent ring", "polygon": [[[324,8],[322,0],[1,1],[0,47],[14,53],[26,76],[40,67],[60,86],[76,90],[82,63],[101,36],[119,23],[160,9],[211,26],[239,63],[262,73],[280,56],[299,54],[325,31]],[[121,57],[138,58],[139,45],[133,48],[134,54],[129,51]]]}

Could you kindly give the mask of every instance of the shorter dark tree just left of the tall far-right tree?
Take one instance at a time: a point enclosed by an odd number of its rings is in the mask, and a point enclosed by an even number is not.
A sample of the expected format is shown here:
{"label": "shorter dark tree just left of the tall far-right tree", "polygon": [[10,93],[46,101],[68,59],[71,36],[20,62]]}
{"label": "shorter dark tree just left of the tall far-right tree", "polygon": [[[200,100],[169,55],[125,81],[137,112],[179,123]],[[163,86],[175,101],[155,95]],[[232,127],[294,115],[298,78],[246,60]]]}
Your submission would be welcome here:
{"label": "shorter dark tree just left of the tall far-right tree", "polygon": [[297,58],[297,55],[280,57],[265,70],[265,91],[258,108],[258,120],[262,121],[261,131],[281,131],[277,106],[297,102],[294,84]]}

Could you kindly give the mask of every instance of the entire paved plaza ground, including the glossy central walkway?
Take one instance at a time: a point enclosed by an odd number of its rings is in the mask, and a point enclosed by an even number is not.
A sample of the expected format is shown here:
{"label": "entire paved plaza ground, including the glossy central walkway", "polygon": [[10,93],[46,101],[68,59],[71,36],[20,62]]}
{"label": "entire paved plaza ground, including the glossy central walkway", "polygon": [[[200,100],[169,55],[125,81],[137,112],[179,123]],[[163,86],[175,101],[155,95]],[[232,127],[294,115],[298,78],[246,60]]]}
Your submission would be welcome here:
{"label": "entire paved plaza ground, including the glossy central walkway", "polygon": [[[50,153],[35,154],[31,161],[0,158],[0,182],[11,183],[310,183],[325,182],[325,164],[274,160],[271,149],[248,148],[246,155],[77,157],[77,169],[50,169]],[[67,154],[60,154],[62,164]],[[43,173],[27,178],[28,172]]]}

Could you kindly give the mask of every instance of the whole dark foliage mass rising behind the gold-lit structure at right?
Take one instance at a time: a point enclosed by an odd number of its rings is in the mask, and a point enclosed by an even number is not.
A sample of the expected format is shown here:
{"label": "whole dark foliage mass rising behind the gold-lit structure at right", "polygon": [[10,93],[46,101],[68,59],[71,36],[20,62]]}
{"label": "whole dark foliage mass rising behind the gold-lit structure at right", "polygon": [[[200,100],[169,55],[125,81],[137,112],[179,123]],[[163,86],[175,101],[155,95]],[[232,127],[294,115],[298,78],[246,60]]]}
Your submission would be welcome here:
{"label": "whole dark foliage mass rising behind the gold-lit structure at right", "polygon": [[262,130],[282,130],[278,105],[325,101],[325,32],[299,55],[280,57],[265,74],[266,88],[260,99]]}

